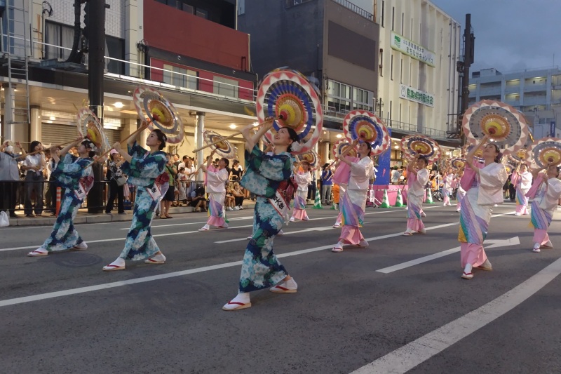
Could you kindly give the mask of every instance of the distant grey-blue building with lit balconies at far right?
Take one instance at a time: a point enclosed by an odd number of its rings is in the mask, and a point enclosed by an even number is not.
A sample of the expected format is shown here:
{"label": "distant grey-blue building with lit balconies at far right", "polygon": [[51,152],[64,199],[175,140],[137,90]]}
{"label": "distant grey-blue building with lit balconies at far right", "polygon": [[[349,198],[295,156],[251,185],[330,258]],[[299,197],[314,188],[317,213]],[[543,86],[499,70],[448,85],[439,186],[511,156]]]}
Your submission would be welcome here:
{"label": "distant grey-blue building with lit balconies at far right", "polygon": [[[535,139],[560,136],[561,70],[559,67],[501,73],[482,69],[471,74],[470,104],[499,100],[524,113]],[[560,126],[561,127],[561,126]]]}

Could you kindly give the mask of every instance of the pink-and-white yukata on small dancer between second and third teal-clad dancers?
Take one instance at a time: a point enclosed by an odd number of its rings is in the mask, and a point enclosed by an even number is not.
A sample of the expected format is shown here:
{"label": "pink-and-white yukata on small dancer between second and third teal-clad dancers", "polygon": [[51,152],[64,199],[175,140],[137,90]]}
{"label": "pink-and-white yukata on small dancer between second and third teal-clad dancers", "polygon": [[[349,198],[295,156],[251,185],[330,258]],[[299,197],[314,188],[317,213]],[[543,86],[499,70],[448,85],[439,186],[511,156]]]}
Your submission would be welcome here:
{"label": "pink-and-white yukata on small dancer between second and third teal-clad dancers", "polygon": [[208,194],[207,225],[228,227],[224,218],[224,199],[226,199],[226,181],[228,171],[209,166],[206,173],[206,192]]}

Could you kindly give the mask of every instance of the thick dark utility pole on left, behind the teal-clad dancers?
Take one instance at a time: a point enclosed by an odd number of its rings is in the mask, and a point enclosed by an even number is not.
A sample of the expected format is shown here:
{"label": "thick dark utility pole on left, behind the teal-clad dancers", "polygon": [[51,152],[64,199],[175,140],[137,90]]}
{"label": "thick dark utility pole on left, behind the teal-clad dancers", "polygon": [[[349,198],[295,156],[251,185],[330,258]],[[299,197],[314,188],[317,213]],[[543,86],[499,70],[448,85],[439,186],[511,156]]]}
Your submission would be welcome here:
{"label": "thick dark utility pole on left, behind the teal-clad dancers", "polygon": [[[83,1],[84,2],[84,1]],[[88,39],[88,98],[90,109],[103,124],[103,74],[105,69],[105,0],[85,0],[84,30]],[[92,165],[94,185],[88,194],[88,213],[102,213],[103,165]]]}

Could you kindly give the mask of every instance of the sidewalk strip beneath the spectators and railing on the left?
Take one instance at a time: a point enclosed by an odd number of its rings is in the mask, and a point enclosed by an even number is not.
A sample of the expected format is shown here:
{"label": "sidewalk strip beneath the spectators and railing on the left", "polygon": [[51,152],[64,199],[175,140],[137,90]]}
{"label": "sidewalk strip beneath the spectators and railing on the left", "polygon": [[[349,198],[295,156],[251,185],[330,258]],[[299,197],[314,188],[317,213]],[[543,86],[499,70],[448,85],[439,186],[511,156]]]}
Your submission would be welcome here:
{"label": "sidewalk strip beneath the spectators and railing on the left", "polygon": [[[255,207],[255,201],[245,200],[243,201],[243,210],[248,210],[250,214],[253,214],[253,208]],[[182,213],[194,213],[195,208],[192,206],[176,206],[170,208],[170,214],[182,214]],[[116,212],[116,210],[115,210]],[[230,211],[227,211],[226,215],[228,215]],[[50,215],[43,211],[43,215],[40,218],[33,217],[27,218],[23,214],[23,211],[16,211],[18,218],[10,218],[10,226],[52,226],[55,224],[56,217],[54,215]],[[206,212],[198,212],[196,214],[207,216]],[[156,220],[158,218],[155,218]],[[123,221],[131,221],[133,220],[133,211],[125,211],[124,214],[118,213],[100,213],[100,214],[91,214],[87,213],[86,208],[82,208],[78,211],[76,218],[74,219],[75,224],[81,223],[104,223],[104,222],[123,222]],[[1,228],[0,228],[1,230]]]}

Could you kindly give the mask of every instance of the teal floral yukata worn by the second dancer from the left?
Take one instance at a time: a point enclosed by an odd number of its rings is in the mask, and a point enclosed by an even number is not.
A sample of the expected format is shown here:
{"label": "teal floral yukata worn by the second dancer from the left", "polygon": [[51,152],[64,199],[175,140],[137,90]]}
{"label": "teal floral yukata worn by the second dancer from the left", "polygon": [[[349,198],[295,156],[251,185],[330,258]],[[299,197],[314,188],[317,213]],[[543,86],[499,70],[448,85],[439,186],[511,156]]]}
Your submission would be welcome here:
{"label": "teal floral yukata worn by the second dancer from the left", "polygon": [[125,248],[120,258],[129,260],[144,260],[155,255],[160,248],[150,233],[150,225],[154,218],[154,209],[160,199],[154,199],[148,189],[154,186],[158,175],[165,168],[165,153],[162,151],[150,154],[150,151],[140,147],[136,142],[133,147],[128,146],[128,154],[133,157],[123,163],[121,170],[128,175],[128,184],[137,186],[133,222],[128,230]]}

